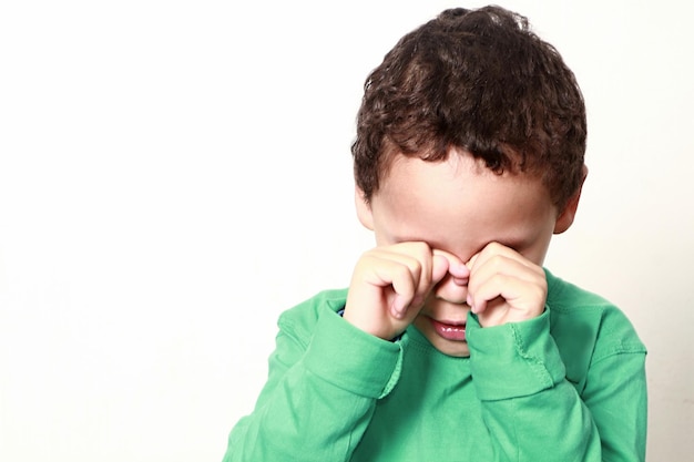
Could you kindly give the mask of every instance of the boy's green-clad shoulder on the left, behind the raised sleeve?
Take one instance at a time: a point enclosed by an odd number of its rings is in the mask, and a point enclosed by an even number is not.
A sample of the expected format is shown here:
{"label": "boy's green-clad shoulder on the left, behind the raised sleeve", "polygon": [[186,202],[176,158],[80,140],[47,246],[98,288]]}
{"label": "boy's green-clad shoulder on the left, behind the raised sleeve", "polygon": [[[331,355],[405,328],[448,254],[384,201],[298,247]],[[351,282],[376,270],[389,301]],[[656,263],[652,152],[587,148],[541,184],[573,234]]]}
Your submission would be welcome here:
{"label": "boy's green-clad shoulder on the left, behind the raised sleeve", "polygon": [[279,315],[280,332],[293,337],[310,338],[322,316],[345,308],[347,289],[323,290]]}

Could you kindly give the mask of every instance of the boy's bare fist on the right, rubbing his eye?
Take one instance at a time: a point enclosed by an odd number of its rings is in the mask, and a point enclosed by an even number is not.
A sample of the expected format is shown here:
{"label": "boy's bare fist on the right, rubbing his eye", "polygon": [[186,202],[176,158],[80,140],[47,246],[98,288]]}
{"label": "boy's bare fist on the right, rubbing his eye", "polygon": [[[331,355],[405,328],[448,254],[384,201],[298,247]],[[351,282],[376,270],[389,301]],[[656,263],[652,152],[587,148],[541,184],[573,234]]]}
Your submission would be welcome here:
{"label": "boy's bare fist on the right, rubbing his eye", "polygon": [[518,251],[491,243],[467,265],[468,305],[482,327],[523,321],[544,310],[544,270]]}

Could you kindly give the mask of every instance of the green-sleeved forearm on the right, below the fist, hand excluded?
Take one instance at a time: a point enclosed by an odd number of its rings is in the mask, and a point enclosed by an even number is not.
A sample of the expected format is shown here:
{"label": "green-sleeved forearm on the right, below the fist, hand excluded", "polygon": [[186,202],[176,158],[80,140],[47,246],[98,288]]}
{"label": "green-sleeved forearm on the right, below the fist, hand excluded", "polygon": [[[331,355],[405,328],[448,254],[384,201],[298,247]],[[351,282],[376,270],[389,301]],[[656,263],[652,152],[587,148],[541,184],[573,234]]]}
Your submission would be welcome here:
{"label": "green-sleeved forearm on the right, below the fist, hand excluded", "polygon": [[601,461],[593,419],[564,379],[549,312],[484,329],[470,321],[472,377],[496,460]]}

